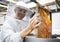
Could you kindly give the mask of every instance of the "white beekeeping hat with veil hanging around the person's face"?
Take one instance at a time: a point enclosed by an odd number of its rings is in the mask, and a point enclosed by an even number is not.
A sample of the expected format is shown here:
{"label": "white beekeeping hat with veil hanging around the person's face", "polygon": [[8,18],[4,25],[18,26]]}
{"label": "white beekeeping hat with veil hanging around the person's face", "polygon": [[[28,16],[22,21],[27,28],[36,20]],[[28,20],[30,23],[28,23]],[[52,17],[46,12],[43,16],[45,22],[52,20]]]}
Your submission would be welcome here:
{"label": "white beekeeping hat with veil hanging around the person's face", "polygon": [[27,3],[23,2],[23,1],[19,1],[19,2],[16,2],[15,4],[9,4],[8,5],[8,10],[7,10],[7,17],[14,17],[15,16],[15,12],[14,12],[14,8],[16,7],[20,7],[22,9],[25,9],[27,10],[26,12],[26,16],[30,16],[31,14],[33,14],[33,11],[31,11],[30,5],[28,5]]}

